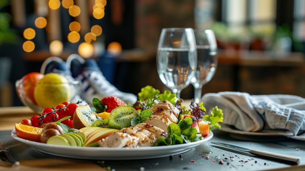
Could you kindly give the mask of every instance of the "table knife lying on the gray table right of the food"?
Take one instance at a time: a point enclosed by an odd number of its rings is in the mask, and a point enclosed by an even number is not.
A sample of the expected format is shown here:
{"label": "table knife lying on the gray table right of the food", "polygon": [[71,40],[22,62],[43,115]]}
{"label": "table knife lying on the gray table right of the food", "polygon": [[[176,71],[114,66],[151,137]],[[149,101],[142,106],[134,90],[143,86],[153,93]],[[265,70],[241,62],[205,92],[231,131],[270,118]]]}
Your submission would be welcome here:
{"label": "table knife lying on the gray table right of the food", "polygon": [[217,144],[220,146],[224,146],[227,148],[231,148],[234,150],[238,150],[238,151],[248,152],[253,155],[258,155],[258,156],[276,159],[276,160],[280,160],[280,161],[284,161],[284,162],[289,162],[289,163],[296,164],[296,165],[298,165],[300,162],[299,158],[294,158],[294,157],[289,157],[289,156],[284,156],[284,155],[279,155],[279,154],[272,154],[272,153],[267,153],[264,151],[251,150],[248,148],[243,148],[243,147],[239,147],[239,146],[235,146],[235,145],[231,145],[231,144],[225,144],[225,143],[219,143],[219,142],[211,142],[211,143]]}

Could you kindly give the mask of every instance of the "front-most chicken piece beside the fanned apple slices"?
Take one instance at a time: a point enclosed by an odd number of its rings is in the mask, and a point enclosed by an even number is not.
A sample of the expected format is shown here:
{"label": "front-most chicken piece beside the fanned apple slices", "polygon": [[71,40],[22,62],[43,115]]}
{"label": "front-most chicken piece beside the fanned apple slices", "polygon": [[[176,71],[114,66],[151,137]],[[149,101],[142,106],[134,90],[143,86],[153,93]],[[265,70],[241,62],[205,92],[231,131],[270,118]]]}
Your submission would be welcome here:
{"label": "front-most chicken piece beside the fanned apple slices", "polygon": [[100,147],[137,147],[139,138],[130,134],[116,132],[99,143]]}

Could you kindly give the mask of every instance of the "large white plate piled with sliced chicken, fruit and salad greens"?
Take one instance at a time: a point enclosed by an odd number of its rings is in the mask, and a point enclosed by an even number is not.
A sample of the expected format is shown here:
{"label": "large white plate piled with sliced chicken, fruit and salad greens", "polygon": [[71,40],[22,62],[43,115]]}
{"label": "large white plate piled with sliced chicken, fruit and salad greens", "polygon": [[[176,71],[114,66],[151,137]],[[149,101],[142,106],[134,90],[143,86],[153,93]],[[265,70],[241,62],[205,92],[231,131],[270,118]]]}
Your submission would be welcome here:
{"label": "large white plate piled with sliced chicken, fruit and salad greens", "polygon": [[[51,99],[52,100],[52,99]],[[184,153],[213,137],[221,109],[204,115],[203,102],[190,109],[170,91],[146,86],[127,105],[115,96],[89,104],[62,102],[15,123],[12,137],[38,151],[77,159],[151,159]],[[54,105],[53,105],[54,106]]]}

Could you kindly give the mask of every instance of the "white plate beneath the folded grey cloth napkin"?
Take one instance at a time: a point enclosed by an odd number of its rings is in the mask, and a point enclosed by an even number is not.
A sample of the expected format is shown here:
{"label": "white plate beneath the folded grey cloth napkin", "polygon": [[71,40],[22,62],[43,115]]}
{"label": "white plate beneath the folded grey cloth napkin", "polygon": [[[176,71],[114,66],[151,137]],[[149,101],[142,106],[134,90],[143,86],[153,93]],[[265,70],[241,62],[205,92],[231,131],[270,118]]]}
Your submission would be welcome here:
{"label": "white plate beneath the folded grey cloth napkin", "polygon": [[233,134],[252,135],[252,136],[286,136],[286,137],[294,136],[293,133],[289,131],[261,130],[260,132],[248,132],[248,131],[235,129],[224,124],[221,124],[221,129],[219,130]]}

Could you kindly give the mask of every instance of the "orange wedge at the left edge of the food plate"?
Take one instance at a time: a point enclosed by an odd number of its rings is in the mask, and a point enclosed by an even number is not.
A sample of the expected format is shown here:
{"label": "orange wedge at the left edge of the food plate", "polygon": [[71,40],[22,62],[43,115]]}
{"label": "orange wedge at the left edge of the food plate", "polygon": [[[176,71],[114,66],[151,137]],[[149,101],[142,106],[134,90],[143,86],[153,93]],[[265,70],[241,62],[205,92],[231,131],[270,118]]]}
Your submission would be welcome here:
{"label": "orange wedge at the left edge of the food plate", "polygon": [[43,132],[43,128],[15,123],[15,129],[18,137],[30,141],[40,142],[40,135]]}

